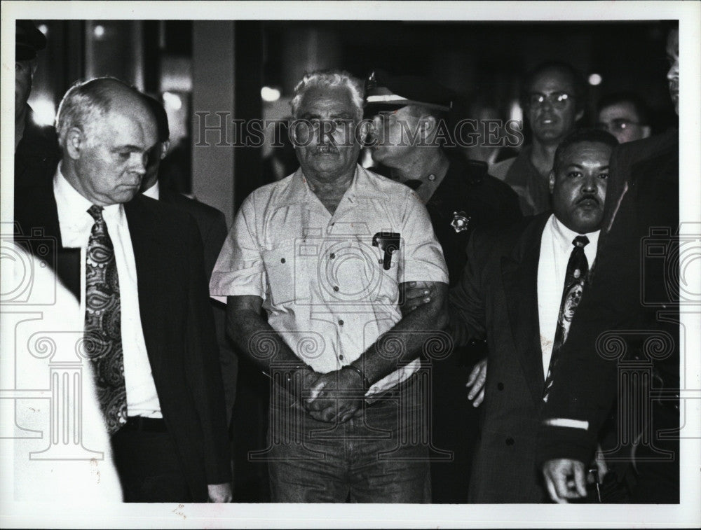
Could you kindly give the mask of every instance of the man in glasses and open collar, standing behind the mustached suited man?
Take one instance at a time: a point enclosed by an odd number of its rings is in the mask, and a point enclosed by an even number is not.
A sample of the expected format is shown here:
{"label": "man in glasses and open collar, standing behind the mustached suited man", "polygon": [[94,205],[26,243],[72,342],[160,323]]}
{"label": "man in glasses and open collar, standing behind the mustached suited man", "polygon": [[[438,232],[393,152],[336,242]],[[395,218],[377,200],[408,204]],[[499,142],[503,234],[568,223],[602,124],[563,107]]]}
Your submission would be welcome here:
{"label": "man in glasses and open collar, standing behind the mustached suited man", "polygon": [[584,116],[586,84],[570,64],[540,64],[526,79],[522,107],[531,128],[531,144],[515,158],[495,164],[491,173],[519,195],[524,215],[550,209],[548,175],[555,150]]}

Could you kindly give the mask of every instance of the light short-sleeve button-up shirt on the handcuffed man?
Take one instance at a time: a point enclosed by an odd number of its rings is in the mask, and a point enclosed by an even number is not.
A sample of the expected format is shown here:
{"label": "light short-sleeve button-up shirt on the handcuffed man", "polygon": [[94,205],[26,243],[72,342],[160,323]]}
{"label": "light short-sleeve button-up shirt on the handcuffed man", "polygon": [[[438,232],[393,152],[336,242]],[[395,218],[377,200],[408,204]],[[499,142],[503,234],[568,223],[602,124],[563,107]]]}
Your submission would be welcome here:
{"label": "light short-sleeve button-up shirt on the handcuffed man", "polygon": [[[398,249],[387,258],[383,246]],[[358,359],[400,321],[400,284],[448,283],[426,207],[414,192],[357,166],[332,215],[294,174],[243,202],[210,280],[210,294],[263,299],[268,323],[316,372]],[[418,359],[376,382],[390,389]]]}

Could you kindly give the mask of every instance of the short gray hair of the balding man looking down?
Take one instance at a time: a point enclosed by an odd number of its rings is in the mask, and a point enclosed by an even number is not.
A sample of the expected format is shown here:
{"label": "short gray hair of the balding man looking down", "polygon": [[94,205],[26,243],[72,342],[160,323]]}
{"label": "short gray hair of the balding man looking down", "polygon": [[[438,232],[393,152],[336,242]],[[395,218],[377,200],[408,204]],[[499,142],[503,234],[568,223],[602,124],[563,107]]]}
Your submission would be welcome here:
{"label": "short gray hair of the balding man looking down", "polygon": [[63,96],[56,114],[58,144],[66,146],[66,136],[76,127],[86,135],[88,142],[95,140],[93,127],[109,113],[117,85],[127,90],[136,90],[113,77],[100,77],[89,81],[78,81]]}

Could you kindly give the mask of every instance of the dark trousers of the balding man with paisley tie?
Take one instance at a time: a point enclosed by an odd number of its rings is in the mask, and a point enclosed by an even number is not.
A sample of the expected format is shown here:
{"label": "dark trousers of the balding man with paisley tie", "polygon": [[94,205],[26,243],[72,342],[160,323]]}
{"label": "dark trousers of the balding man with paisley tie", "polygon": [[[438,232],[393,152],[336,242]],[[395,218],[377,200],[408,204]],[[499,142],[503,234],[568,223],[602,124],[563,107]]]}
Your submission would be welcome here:
{"label": "dark trousers of the balding man with paisley tie", "polygon": [[193,502],[162,419],[130,419],[111,442],[125,503]]}

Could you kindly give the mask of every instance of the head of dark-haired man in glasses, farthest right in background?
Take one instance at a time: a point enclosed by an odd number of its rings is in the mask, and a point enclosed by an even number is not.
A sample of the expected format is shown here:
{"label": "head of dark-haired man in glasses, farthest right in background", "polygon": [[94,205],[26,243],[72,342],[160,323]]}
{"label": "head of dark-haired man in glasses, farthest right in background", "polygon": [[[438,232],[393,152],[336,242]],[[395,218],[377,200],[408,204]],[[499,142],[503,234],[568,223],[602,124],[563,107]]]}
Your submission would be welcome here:
{"label": "head of dark-haired man in glasses, farthest right in background", "polygon": [[608,131],[619,144],[650,136],[647,104],[634,92],[618,92],[601,98],[597,129]]}

